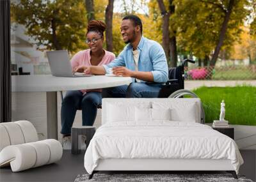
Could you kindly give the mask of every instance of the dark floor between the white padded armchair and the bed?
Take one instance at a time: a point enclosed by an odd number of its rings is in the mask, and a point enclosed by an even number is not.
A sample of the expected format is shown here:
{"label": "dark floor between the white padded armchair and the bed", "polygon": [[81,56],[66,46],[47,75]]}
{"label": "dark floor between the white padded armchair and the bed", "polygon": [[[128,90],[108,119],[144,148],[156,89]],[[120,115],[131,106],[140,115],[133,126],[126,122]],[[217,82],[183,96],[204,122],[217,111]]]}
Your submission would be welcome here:
{"label": "dark floor between the white padded armchair and the bed", "polygon": [[86,173],[84,169],[84,153],[72,155],[63,150],[59,162],[21,172],[12,172],[10,167],[0,169],[0,181],[74,181],[78,174]]}

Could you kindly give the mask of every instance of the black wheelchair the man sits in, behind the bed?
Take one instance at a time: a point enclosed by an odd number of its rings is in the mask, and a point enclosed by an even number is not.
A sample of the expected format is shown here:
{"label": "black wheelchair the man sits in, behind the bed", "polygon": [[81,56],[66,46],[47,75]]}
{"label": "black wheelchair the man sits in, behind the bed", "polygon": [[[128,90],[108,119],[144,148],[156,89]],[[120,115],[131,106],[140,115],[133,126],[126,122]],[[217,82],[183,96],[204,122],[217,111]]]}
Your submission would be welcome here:
{"label": "black wheelchair the man sits in, behind the bed", "polygon": [[[184,66],[185,64],[193,63],[195,64],[194,60],[191,59],[184,59],[180,66],[175,68],[170,68],[168,71],[168,81],[164,84],[164,86],[160,89],[158,98],[184,98],[184,96],[189,96],[192,98],[198,98],[198,96],[189,91],[184,89],[184,80],[185,80],[185,73],[184,73]],[[202,102],[200,104],[201,107],[201,123],[205,123],[205,112]]]}

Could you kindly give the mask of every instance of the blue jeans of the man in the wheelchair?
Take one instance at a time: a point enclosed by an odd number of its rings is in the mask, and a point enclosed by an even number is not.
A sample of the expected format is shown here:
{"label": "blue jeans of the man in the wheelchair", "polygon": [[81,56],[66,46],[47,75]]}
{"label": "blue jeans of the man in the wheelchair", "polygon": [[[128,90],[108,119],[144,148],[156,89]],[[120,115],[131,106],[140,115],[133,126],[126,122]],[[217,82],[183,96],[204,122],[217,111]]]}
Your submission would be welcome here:
{"label": "blue jeans of the man in the wheelchair", "polygon": [[148,85],[140,82],[133,82],[129,86],[118,86],[103,89],[104,98],[157,98],[160,84]]}

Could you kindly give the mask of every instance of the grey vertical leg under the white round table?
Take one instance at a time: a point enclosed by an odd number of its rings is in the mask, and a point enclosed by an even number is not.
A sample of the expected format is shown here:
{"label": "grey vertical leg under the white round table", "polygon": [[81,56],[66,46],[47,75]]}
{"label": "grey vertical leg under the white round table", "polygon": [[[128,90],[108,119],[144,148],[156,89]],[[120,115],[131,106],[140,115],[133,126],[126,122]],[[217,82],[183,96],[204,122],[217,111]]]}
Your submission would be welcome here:
{"label": "grey vertical leg under the white round table", "polygon": [[57,92],[46,93],[47,103],[47,139],[58,140],[58,110],[57,110]]}

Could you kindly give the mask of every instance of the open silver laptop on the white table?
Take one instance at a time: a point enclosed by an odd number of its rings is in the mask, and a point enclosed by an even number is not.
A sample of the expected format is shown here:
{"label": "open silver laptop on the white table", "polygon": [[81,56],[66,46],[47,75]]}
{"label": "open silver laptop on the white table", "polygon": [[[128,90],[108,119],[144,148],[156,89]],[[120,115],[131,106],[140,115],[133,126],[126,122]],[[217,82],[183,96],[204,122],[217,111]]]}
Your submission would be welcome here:
{"label": "open silver laptop on the white table", "polygon": [[84,73],[73,73],[67,50],[47,51],[52,76],[56,77],[90,77]]}

